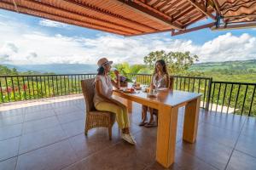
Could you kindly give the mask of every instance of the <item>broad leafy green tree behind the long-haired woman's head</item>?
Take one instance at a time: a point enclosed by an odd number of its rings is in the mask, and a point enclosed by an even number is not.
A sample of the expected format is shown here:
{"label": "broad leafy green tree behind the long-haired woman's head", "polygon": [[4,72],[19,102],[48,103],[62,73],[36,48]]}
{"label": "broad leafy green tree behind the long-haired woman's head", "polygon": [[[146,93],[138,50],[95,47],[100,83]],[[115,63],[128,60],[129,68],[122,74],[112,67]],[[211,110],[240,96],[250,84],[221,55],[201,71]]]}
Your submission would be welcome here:
{"label": "broad leafy green tree behind the long-haired woman's head", "polygon": [[185,71],[189,69],[189,66],[193,65],[195,61],[198,61],[198,56],[191,55],[190,52],[166,53],[164,50],[161,50],[146,55],[144,57],[144,63],[153,69],[155,62],[159,59],[164,59],[166,61],[169,73],[179,75],[184,74]]}

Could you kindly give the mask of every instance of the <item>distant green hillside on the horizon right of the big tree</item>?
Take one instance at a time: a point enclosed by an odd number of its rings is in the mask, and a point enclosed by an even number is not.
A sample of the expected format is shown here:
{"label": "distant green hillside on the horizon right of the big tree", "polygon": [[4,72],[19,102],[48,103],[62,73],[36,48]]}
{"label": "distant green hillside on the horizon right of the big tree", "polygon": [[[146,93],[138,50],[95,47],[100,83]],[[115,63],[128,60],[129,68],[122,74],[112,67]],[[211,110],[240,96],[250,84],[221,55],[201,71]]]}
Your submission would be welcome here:
{"label": "distant green hillside on the horizon right of the big tree", "polygon": [[192,65],[189,71],[256,71],[256,59],[239,60],[239,61],[224,61],[224,62],[208,62]]}

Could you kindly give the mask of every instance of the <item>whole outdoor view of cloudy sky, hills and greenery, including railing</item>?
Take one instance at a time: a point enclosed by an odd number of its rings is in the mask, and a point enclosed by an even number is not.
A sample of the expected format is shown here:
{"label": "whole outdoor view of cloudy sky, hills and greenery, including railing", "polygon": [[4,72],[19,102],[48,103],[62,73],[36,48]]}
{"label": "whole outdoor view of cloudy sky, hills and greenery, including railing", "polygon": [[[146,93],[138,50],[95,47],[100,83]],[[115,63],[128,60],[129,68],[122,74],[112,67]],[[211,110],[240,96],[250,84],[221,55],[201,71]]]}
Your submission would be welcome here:
{"label": "whole outdoor view of cloudy sky, hills and greenery, including railing", "polygon": [[101,57],[128,80],[149,84],[155,61],[165,59],[174,88],[203,94],[202,108],[256,115],[254,29],[119,37],[1,12],[1,103],[80,94],[80,80],[95,77]]}

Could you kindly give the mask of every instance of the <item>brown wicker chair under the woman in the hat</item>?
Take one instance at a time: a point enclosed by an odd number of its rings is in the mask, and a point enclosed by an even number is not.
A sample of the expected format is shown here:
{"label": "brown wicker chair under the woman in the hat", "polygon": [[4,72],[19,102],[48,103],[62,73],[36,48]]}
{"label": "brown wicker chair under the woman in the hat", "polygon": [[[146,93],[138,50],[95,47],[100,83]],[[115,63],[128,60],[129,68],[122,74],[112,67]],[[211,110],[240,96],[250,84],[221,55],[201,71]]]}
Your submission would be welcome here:
{"label": "brown wicker chair under the woman in the hat", "polygon": [[88,130],[93,127],[108,127],[109,139],[112,138],[112,127],[115,122],[115,114],[108,111],[96,111],[93,103],[94,96],[94,78],[81,81],[86,105],[86,118],[84,134],[87,136]]}

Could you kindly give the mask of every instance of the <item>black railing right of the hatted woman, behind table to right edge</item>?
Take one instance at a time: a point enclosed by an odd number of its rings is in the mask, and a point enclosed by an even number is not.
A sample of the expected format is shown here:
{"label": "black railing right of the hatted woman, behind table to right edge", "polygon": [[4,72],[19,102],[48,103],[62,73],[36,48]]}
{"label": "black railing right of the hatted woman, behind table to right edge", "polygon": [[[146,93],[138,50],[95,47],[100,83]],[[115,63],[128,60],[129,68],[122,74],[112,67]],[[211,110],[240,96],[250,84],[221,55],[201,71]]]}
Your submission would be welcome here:
{"label": "black railing right of the hatted woman, behind table to right edge", "polygon": [[[152,78],[148,74],[131,74],[131,77],[148,85]],[[256,83],[213,82],[211,77],[172,77],[174,89],[201,93],[201,108],[207,111],[256,116]]]}

